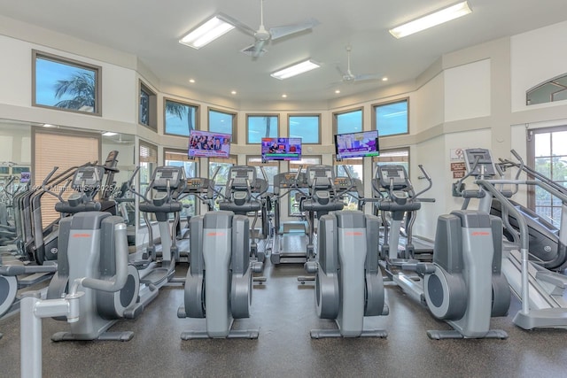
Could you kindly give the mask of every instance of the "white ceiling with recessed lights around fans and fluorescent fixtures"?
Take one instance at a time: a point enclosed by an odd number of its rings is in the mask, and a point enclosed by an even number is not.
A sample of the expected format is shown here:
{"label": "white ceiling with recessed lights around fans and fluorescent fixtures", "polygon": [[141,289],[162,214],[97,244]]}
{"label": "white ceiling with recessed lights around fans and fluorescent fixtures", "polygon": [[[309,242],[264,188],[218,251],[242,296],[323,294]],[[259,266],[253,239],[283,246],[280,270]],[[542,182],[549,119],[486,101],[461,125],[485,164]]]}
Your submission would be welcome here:
{"label": "white ceiling with recessed lights around fans and fluorescent fixtures", "polygon": [[[264,25],[315,18],[312,31],[272,42],[253,59],[240,50],[253,37],[235,29],[200,50],[178,42],[191,28],[222,12],[252,29],[260,0],[0,0],[0,15],[135,54],[162,84],[240,101],[325,100],[415,79],[442,54],[567,19],[566,0],[469,0],[472,14],[397,40],[388,29],[454,4],[453,0],[265,0]],[[346,46],[353,73],[389,81],[341,82]],[[558,46],[559,48],[559,46]],[[312,58],[322,68],[285,81],[269,73]],[[195,79],[194,84],[189,79]],[[341,94],[334,93],[340,89]],[[236,90],[237,95],[230,95]]]}

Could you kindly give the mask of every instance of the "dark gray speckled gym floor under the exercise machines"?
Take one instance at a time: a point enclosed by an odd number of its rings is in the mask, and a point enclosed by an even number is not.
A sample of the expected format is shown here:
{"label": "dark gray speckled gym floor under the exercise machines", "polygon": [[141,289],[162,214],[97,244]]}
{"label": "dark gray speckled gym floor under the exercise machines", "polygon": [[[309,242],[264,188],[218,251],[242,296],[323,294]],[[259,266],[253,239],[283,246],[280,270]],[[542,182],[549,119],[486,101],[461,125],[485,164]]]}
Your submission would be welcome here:
{"label": "dark gray speckled gym floor under the exercise machines", "polygon": [[[43,320],[45,377],[564,377],[567,331],[524,331],[510,316],[493,319],[508,340],[430,340],[427,329],[449,329],[426,309],[387,287],[390,315],[367,324],[385,328],[387,339],[311,340],[312,328],[333,327],[315,315],[312,286],[296,276],[301,266],[268,266],[268,282],[253,291],[252,316],[236,328],[260,328],[258,340],[182,341],[187,329],[204,320],[178,319],[183,289],[164,289],[137,320],[111,330],[133,330],[128,343],[52,343],[50,335],[66,323]],[[19,376],[19,317],[0,320],[0,376]]]}

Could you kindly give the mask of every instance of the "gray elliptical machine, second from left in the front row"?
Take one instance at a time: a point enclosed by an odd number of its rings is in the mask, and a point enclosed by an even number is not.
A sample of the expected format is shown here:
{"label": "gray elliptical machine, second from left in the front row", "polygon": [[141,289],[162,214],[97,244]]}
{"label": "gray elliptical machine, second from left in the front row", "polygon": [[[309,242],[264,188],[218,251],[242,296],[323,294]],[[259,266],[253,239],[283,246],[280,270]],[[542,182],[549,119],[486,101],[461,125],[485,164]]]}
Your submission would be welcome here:
{"label": "gray elliptical machine, second from left in the front row", "polygon": [[[256,170],[245,168],[231,170],[227,188],[250,189]],[[249,195],[247,191],[236,191],[233,198],[245,201]],[[250,208],[259,210],[259,206]],[[257,329],[231,329],[235,319],[250,317],[252,266],[261,263],[251,259],[249,243],[250,220],[245,215],[220,210],[191,217],[190,266],[184,305],[179,307],[177,316],[205,318],[206,330],[185,331],[183,340],[258,338]]]}

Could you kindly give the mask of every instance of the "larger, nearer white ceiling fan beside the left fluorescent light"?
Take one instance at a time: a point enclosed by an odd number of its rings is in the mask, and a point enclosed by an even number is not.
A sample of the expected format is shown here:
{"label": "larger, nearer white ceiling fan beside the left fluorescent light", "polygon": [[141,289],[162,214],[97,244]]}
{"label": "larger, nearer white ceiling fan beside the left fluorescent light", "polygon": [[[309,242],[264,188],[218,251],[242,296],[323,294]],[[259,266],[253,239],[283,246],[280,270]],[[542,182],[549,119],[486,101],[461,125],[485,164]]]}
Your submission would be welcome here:
{"label": "larger, nearer white ceiling fan beside the left fluorescent light", "polygon": [[269,29],[266,29],[264,26],[264,0],[260,0],[260,27],[258,27],[258,30],[254,30],[252,27],[248,27],[237,19],[233,19],[225,14],[219,14],[217,17],[254,37],[254,43],[241,50],[243,53],[251,56],[252,58],[259,58],[263,56],[267,52],[265,47],[270,41],[276,41],[284,36],[294,35],[319,25],[319,21],[316,19],[308,19],[307,21],[299,24],[291,24],[283,27],[270,27]]}

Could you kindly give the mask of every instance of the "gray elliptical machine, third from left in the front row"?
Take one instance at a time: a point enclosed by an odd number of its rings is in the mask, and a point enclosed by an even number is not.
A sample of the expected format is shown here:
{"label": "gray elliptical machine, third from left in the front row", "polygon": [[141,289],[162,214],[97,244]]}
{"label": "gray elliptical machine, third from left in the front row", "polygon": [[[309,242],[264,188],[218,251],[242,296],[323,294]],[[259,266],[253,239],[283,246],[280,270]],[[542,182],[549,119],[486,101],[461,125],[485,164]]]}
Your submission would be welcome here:
{"label": "gray elliptical machine, third from left in the front row", "polygon": [[[332,167],[316,169],[315,172],[307,170],[308,179],[314,181],[313,187],[322,185],[316,182],[317,178],[332,177]],[[353,188],[350,176],[341,179],[350,182],[345,192]],[[335,180],[323,181],[330,185],[330,193],[335,197],[328,197],[329,201],[337,201],[341,192],[335,191]],[[315,193],[319,197],[317,202],[326,196],[322,192]],[[308,202],[307,208],[309,206]],[[327,212],[319,217],[317,240],[315,261],[306,263],[307,272],[315,273],[315,308],[320,318],[335,320],[338,328],[315,329],[311,337],[386,337],[384,330],[363,327],[365,316],[389,312],[378,266],[377,217],[359,210]]]}

